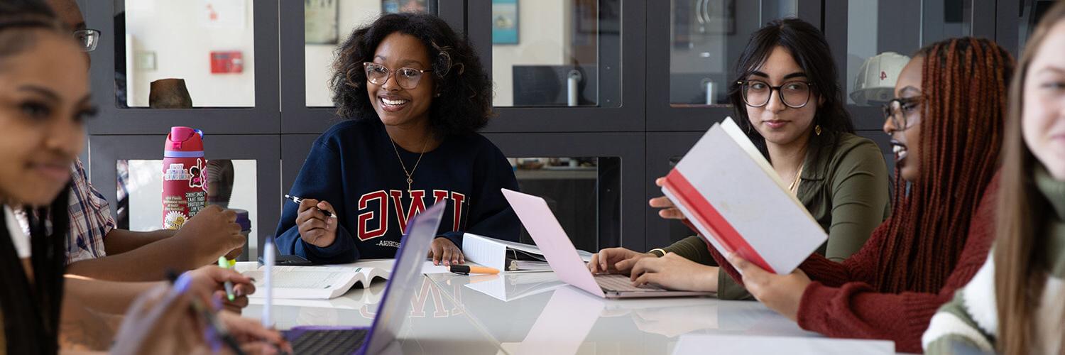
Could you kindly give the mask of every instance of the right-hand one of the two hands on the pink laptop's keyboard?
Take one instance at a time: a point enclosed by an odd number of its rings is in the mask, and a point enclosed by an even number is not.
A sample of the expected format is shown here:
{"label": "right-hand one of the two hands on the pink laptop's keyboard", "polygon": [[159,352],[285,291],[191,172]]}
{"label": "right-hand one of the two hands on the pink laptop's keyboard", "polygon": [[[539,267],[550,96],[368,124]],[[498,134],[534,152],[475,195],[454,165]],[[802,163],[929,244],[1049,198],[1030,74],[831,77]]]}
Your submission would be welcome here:
{"label": "right-hand one of the two hands on the pink laptop's keyboard", "polygon": [[641,258],[629,275],[634,286],[657,285],[674,291],[718,291],[718,268],[704,265],[674,253]]}

